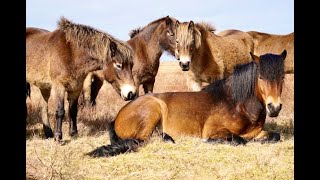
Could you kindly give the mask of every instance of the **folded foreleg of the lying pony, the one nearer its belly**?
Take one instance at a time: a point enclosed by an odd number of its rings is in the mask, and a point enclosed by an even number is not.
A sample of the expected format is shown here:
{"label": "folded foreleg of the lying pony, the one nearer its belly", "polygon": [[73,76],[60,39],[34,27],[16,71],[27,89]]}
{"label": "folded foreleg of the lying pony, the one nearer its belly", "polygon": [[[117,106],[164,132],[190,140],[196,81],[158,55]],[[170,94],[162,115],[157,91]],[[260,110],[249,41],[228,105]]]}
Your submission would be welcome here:
{"label": "folded foreleg of the lying pony, the one nearer its belly", "polygon": [[247,143],[242,137],[232,134],[228,129],[221,129],[211,135],[205,142],[213,144],[231,144],[234,146]]}

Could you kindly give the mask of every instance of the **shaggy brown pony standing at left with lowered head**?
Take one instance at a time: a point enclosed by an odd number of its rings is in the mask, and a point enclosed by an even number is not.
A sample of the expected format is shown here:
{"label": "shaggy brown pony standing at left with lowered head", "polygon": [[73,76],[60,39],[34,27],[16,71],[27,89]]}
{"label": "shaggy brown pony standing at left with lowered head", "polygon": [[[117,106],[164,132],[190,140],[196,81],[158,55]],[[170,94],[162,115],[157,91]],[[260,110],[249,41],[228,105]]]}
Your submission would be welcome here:
{"label": "shaggy brown pony standing at left with lowered head", "polygon": [[[78,97],[87,74],[105,68],[105,79],[121,97],[131,100],[136,93],[132,78],[132,50],[124,42],[92,27],[75,24],[62,17],[59,28],[49,32],[26,29],[26,78],[37,86],[43,98],[56,105],[55,140],[62,139],[64,97],[69,101],[69,134],[77,134]],[[46,137],[53,137],[47,103],[42,113]]]}

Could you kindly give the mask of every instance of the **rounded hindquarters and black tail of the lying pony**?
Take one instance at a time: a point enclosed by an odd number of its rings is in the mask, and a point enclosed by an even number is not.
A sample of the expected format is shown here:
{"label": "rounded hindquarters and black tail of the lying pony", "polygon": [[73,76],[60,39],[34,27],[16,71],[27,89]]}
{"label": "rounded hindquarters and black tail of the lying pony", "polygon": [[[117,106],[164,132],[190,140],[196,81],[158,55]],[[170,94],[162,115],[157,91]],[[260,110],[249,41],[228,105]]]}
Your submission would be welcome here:
{"label": "rounded hindquarters and black tail of the lying pony", "polygon": [[161,100],[144,95],[129,102],[118,113],[109,129],[111,144],[99,147],[89,153],[92,157],[115,156],[136,151],[146,142],[167,110]]}

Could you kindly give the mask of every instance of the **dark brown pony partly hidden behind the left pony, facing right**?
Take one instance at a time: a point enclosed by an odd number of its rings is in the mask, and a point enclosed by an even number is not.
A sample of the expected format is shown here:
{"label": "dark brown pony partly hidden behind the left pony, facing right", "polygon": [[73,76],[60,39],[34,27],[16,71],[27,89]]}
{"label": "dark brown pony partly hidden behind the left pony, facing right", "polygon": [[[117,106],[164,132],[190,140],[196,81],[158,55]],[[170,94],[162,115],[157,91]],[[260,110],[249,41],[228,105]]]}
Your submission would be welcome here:
{"label": "dark brown pony partly hidden behind the left pony, facing right", "polygon": [[[160,57],[164,51],[174,54],[175,21],[169,16],[157,19],[143,28],[132,30],[128,44],[133,49],[132,74],[136,84],[137,97],[139,86],[143,85],[145,93],[152,93],[155,77],[158,73]],[[86,104],[95,104],[95,98],[103,85],[103,71],[96,71],[87,76],[84,83]]]}

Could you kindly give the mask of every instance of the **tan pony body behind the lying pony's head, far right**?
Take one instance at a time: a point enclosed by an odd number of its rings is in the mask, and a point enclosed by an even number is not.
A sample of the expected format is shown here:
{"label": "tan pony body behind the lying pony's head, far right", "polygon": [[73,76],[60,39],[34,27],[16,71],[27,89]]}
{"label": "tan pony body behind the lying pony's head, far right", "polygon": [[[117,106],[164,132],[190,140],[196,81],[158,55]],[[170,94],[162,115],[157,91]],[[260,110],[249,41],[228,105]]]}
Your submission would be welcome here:
{"label": "tan pony body behind the lying pony's head, far right", "polygon": [[267,34],[257,31],[247,32],[253,38],[254,54],[280,53],[284,49],[288,51],[284,71],[287,74],[294,73],[294,32],[286,35]]}

